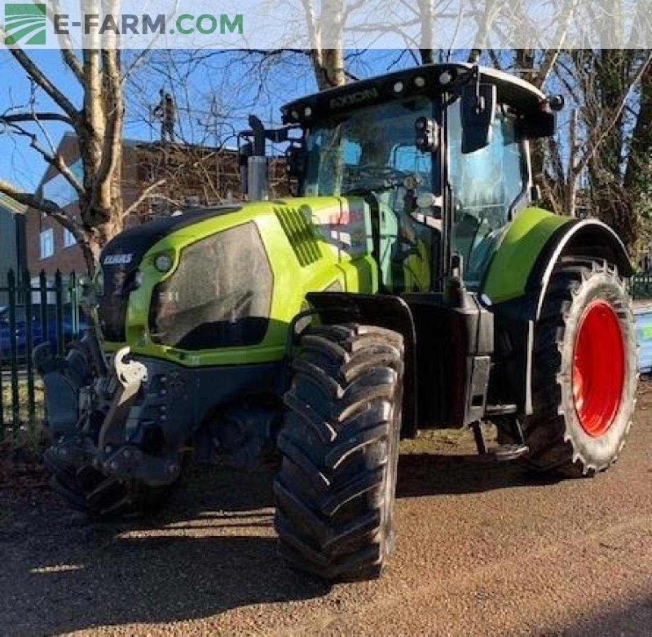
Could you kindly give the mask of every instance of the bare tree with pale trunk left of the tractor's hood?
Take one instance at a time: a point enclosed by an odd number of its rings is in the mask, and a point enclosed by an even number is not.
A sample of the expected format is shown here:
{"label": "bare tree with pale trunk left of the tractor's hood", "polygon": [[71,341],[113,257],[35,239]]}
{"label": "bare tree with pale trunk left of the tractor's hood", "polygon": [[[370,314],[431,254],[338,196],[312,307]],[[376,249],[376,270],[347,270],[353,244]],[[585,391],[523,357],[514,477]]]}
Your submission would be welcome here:
{"label": "bare tree with pale trunk left of the tractor's hood", "polygon": [[[97,6],[96,6],[97,5]],[[98,0],[82,0],[82,10],[98,13]],[[117,12],[119,0],[109,0],[106,10]],[[56,3],[48,5],[49,14]],[[0,35],[5,35],[0,28]],[[121,141],[123,132],[123,75],[121,55],[114,33],[100,38],[99,27],[91,27],[81,52],[72,50],[62,37],[61,57],[82,90],[81,104],[57,87],[52,78],[25,51],[9,49],[14,61],[33,87],[29,104],[0,115],[5,132],[25,137],[31,147],[68,181],[78,195],[78,210],[62,208],[38,193],[20,191],[0,181],[0,191],[23,205],[56,219],[74,235],[82,248],[89,270],[93,270],[101,246],[121,229]],[[40,112],[39,98],[45,95],[55,105],[52,112]],[[67,124],[78,140],[82,175],[74,173],[48,135],[48,122]]]}

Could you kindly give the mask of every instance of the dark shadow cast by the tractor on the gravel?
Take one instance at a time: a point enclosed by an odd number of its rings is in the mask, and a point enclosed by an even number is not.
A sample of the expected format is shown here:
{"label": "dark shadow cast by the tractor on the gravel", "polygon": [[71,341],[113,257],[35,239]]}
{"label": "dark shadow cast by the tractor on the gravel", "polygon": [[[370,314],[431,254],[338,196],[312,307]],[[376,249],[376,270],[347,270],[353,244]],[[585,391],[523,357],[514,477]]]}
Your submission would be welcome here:
{"label": "dark shadow cast by the tractor on the gravel", "polygon": [[[531,484],[515,466],[471,455],[404,453],[397,494]],[[0,526],[7,556],[0,593],[20,591],[0,608],[0,625],[14,634],[60,634],[192,621],[327,595],[330,586],[276,555],[273,511],[270,474],[226,468],[192,468],[168,507],[147,520],[93,522],[58,502],[20,511],[15,525]]]}

